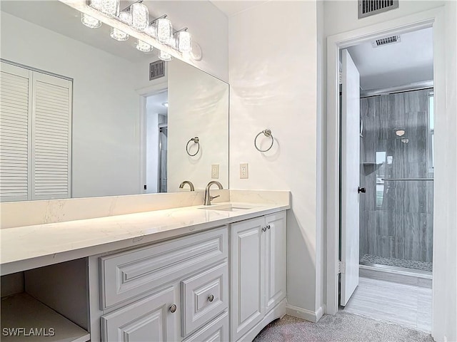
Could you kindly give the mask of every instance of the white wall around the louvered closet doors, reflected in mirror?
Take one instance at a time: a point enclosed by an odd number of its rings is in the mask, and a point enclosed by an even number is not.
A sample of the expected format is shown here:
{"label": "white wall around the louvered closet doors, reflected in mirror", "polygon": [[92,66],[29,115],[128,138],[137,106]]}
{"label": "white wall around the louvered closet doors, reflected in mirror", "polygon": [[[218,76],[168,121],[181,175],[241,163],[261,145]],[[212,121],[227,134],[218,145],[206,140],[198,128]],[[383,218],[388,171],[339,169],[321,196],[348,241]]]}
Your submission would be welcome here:
{"label": "white wall around the louvered closet doors, reflected in mirror", "polygon": [[4,12],[1,58],[74,78],[72,197],[139,193],[132,63]]}

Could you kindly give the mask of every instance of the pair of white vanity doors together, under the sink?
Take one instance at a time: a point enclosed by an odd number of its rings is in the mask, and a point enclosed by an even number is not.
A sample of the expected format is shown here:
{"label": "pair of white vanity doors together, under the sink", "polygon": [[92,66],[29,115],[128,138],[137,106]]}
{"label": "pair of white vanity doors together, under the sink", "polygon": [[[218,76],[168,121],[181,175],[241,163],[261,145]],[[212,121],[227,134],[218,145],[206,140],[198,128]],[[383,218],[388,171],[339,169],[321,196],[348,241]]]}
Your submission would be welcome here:
{"label": "pair of white vanity doors together, under the sink", "polygon": [[283,310],[272,318],[285,314],[286,212],[233,223],[230,233],[230,341],[248,341],[278,304]]}

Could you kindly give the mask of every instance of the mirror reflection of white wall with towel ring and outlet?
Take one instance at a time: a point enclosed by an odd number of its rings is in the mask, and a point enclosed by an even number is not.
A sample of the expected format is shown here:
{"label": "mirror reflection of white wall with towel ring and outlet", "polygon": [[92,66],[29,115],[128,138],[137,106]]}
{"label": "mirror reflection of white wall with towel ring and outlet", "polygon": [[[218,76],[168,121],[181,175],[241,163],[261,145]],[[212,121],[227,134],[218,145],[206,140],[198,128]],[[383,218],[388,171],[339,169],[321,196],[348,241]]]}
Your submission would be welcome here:
{"label": "mirror reflection of white wall with towel ring and outlet", "polygon": [[[186,63],[169,68],[169,151],[167,190],[179,191],[184,180],[204,189],[211,179],[211,165],[219,164],[219,179],[229,187],[229,85]],[[199,137],[200,150],[191,157],[187,142]],[[198,147],[189,143],[191,154]],[[186,187],[186,191],[189,189]],[[183,191],[183,190],[181,190]]]}

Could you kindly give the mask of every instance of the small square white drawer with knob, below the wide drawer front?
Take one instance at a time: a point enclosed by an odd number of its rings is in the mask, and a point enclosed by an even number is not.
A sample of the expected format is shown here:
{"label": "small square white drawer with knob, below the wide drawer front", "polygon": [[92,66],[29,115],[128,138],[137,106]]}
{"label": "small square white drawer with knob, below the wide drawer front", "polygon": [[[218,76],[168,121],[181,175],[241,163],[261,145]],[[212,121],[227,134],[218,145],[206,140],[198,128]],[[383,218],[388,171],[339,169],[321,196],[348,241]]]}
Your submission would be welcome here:
{"label": "small square white drawer with knob, below the wide drawer front", "polygon": [[187,336],[229,307],[229,264],[181,281],[181,334]]}

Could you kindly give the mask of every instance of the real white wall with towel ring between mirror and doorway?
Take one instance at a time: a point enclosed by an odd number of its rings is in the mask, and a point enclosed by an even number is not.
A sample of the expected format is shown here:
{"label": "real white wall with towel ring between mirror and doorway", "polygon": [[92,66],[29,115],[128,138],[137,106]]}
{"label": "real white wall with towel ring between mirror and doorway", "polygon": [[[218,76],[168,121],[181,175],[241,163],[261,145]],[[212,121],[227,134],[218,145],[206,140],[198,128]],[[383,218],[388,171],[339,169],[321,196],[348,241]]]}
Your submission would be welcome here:
{"label": "real white wall with towel ring between mirror and doorway", "polygon": [[[259,2],[229,18],[230,187],[291,191],[287,301],[308,319],[321,306],[316,24],[313,1]],[[275,140],[261,153],[253,140],[266,128]]]}

